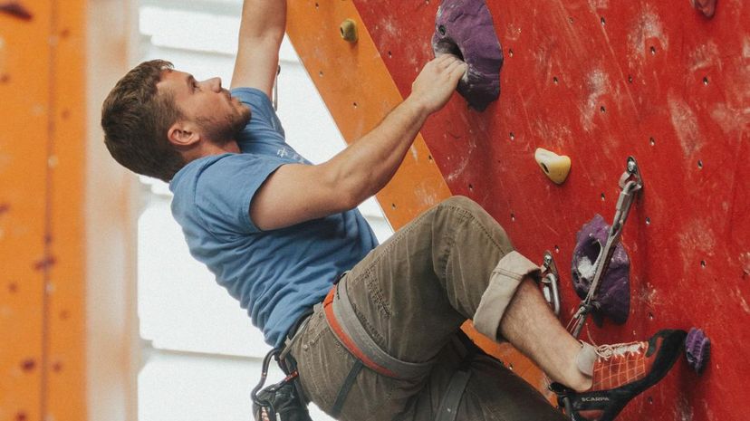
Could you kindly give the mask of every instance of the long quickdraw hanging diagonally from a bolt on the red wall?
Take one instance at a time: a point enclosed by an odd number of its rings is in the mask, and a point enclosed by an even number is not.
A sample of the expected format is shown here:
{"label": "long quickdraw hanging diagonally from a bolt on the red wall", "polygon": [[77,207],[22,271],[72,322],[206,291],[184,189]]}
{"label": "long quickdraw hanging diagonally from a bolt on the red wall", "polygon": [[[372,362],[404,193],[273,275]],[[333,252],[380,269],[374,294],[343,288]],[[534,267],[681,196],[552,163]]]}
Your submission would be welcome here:
{"label": "long quickdraw hanging diagonally from a bolt on the red wall", "polygon": [[617,208],[614,215],[614,220],[610,227],[610,232],[607,237],[607,243],[601,249],[599,256],[596,259],[596,273],[594,273],[593,280],[591,281],[591,287],[586,295],[586,298],[581,301],[578,311],[573,314],[571,323],[573,324],[572,336],[578,338],[583,329],[583,325],[586,323],[586,318],[591,311],[597,308],[596,295],[599,292],[601,286],[601,278],[604,273],[607,273],[607,269],[610,266],[612,254],[615,252],[617,244],[620,243],[620,236],[622,235],[622,227],[628,220],[628,214],[630,214],[630,206],[640,189],[643,188],[643,179],[640,177],[639,167],[636,163],[635,158],[628,157],[628,164],[625,172],[620,176],[620,197],[617,200]]}

